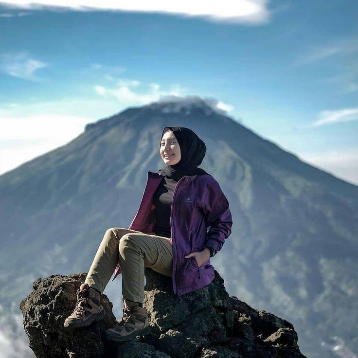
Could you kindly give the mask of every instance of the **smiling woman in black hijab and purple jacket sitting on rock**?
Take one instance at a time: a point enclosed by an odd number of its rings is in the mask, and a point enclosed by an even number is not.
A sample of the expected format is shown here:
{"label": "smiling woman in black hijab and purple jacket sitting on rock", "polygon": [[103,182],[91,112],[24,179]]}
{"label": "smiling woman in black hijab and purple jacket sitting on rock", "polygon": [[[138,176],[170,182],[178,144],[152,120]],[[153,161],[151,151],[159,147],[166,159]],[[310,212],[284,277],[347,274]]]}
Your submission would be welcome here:
{"label": "smiling woman in black hijab and purple jacket sitting on rock", "polygon": [[150,332],[143,307],[144,267],[172,277],[177,295],[213,281],[210,257],[221,250],[233,222],[219,184],[197,167],[205,152],[205,143],[191,129],[164,127],[160,155],[166,166],[148,172],[129,228],[106,231],[65,327],[86,326],[104,317],[100,296],[113,270],[114,278],[122,272],[123,318],[106,337],[116,341]]}

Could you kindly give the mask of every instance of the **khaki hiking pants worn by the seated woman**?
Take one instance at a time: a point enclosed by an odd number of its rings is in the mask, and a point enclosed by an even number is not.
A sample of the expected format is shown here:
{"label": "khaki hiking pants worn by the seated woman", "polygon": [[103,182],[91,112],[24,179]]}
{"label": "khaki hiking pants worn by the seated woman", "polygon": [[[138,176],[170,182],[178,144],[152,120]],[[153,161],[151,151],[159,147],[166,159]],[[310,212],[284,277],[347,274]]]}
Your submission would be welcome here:
{"label": "khaki hiking pants worn by the seated woman", "polygon": [[103,236],[85,283],[103,293],[118,262],[122,269],[122,302],[143,303],[144,267],[172,276],[171,239],[125,228],[110,228]]}

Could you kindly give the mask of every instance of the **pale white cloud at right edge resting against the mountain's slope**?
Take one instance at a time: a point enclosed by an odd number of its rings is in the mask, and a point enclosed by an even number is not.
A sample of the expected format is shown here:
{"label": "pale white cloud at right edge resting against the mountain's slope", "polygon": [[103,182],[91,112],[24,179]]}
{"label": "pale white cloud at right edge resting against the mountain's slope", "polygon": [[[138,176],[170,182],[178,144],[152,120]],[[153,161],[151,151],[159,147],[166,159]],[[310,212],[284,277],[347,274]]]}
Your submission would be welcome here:
{"label": "pale white cloud at right edge resting against the mountain's slope", "polygon": [[303,152],[299,157],[340,179],[358,185],[358,149]]}

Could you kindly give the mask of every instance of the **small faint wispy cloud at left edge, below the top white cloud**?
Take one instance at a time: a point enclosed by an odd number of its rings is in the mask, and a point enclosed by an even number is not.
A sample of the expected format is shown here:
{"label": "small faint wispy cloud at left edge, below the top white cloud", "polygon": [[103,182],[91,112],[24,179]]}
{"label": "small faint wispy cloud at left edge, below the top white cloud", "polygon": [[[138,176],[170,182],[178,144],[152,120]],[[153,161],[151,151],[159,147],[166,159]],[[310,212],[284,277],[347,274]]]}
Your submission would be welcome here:
{"label": "small faint wispy cloud at left edge, below the top white cloud", "polygon": [[39,81],[35,72],[47,67],[45,62],[31,58],[26,52],[17,54],[2,54],[0,57],[0,70],[6,74],[31,81]]}

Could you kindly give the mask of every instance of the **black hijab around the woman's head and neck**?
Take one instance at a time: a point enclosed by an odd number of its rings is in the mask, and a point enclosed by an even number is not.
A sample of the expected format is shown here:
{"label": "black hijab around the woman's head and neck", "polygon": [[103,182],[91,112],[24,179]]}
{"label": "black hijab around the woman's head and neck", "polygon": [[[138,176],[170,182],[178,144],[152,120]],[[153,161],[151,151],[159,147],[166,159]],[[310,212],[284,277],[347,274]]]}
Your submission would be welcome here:
{"label": "black hijab around the woman's head and neck", "polygon": [[175,181],[178,181],[184,175],[208,174],[205,170],[197,167],[205,157],[205,143],[191,129],[186,127],[164,127],[161,139],[166,128],[169,128],[177,138],[181,158],[177,164],[167,165],[165,168],[159,169],[158,173]]}

